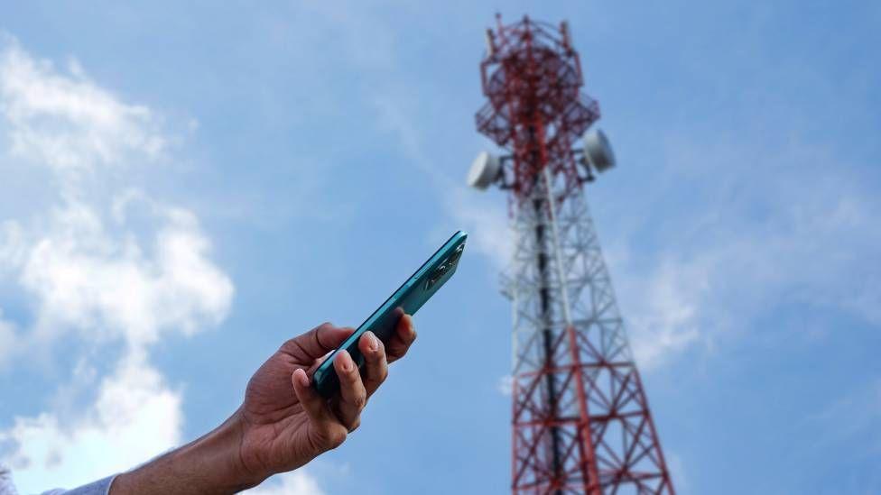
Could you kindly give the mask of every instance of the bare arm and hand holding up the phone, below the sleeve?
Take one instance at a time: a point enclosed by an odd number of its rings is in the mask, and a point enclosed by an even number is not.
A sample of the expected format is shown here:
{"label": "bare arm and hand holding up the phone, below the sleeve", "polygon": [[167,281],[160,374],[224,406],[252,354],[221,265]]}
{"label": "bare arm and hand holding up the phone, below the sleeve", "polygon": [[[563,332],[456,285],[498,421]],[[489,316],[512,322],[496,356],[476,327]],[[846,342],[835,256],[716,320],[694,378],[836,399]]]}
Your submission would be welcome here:
{"label": "bare arm and hand holding up the phone, below the sleeve", "polygon": [[311,371],[352,332],[324,324],[284,343],[255,372],[244,403],[227,421],[189,445],[118,475],[109,494],[236,493],[341,445],[360,424],[366,400],[385,380],[387,362],[403,357],[416,338],[410,316],[401,318],[387,353],[386,345],[368,332],[358,342],[364,369],[359,372],[348,353],[338,353],[333,364],[340,391],[323,399],[311,388]]}

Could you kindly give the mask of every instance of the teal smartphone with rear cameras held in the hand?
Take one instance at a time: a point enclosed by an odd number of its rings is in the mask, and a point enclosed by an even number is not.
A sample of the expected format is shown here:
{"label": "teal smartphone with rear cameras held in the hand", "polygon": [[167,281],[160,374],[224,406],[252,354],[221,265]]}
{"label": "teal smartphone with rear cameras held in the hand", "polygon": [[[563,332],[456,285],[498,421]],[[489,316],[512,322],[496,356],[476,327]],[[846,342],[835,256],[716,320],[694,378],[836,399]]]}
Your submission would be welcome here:
{"label": "teal smartphone with rear cameras held in the hand", "polygon": [[465,251],[465,240],[468,234],[459,231],[450,237],[450,240],[440,246],[428,261],[422,263],[422,267],[416,270],[409,279],[403,282],[394,294],[385,300],[382,306],[370,315],[361,326],[357,327],[354,334],[350,335],[337,350],[330,353],[327,359],[320,364],[312,375],[312,383],[319,393],[329,398],[339,390],[339,377],[333,367],[333,358],[337,353],[345,349],[351,354],[352,359],[360,368],[364,365],[364,356],[357,348],[358,339],[369,330],[376,337],[388,342],[394,335],[394,329],[398,320],[404,314],[413,315],[429,300],[443,284],[450,280],[456,267],[459,266],[459,258]]}

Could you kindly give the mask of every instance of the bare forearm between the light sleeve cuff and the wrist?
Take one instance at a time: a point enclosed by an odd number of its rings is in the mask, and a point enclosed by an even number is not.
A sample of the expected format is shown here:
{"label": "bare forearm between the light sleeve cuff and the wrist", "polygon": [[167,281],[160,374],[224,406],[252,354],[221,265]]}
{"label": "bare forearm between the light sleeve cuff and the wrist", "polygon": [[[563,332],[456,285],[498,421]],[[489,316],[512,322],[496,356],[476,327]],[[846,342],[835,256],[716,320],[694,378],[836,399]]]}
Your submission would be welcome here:
{"label": "bare forearm between the light sleeve cuff and the wrist", "polygon": [[110,487],[110,495],[219,495],[256,486],[263,480],[246,472],[241,463],[241,438],[236,413],[195,442],[120,474]]}

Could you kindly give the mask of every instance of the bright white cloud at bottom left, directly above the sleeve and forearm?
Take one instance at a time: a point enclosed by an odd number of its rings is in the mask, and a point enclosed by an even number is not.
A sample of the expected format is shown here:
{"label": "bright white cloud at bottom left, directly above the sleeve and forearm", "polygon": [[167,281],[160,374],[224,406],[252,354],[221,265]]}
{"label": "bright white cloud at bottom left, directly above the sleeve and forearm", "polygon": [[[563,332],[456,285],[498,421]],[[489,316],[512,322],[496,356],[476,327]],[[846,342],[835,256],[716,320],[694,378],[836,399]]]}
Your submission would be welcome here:
{"label": "bright white cloud at bottom left, directly above the sleeve and forearm", "polygon": [[181,399],[143,354],[131,353],[101,380],[95,403],[76,420],[53,412],[16,417],[0,432],[0,442],[14,445],[5,462],[26,493],[130,469],[181,442]]}

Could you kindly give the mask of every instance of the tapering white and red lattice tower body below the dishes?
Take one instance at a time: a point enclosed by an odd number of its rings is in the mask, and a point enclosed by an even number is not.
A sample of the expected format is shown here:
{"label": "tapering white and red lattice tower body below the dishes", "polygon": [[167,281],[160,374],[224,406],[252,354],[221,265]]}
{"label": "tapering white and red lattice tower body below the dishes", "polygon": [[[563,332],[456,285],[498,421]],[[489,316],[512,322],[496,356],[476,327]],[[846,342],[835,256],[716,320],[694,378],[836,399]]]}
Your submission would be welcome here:
{"label": "tapering white and red lattice tower body below the dishes", "polygon": [[[533,189],[548,192],[558,197]],[[585,198],[577,190],[524,205],[507,288],[515,301],[512,490],[674,493]]]}

